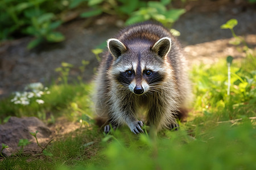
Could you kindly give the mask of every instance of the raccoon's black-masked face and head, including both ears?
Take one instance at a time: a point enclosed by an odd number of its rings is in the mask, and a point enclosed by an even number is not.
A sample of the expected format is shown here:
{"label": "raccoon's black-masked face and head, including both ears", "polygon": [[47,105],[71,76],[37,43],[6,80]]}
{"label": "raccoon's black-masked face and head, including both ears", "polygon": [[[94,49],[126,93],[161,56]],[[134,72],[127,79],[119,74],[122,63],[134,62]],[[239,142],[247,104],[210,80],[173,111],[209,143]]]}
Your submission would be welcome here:
{"label": "raccoon's black-masked face and head, including both ears", "polygon": [[140,42],[128,47],[117,39],[110,39],[108,48],[114,57],[113,78],[123,90],[129,89],[135,95],[155,91],[155,87],[168,74],[164,63],[171,48],[168,37],[160,39],[153,46]]}

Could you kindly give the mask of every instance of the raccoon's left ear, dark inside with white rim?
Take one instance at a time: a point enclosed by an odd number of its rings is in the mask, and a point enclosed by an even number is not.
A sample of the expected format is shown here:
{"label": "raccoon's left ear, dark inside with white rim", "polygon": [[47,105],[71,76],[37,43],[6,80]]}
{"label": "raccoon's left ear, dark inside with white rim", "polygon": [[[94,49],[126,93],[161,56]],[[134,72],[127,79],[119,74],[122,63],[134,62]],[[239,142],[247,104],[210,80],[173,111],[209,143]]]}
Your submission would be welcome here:
{"label": "raccoon's left ear, dark inside with white rim", "polygon": [[126,46],[117,39],[109,39],[108,41],[109,52],[117,59],[122,53],[126,52]]}

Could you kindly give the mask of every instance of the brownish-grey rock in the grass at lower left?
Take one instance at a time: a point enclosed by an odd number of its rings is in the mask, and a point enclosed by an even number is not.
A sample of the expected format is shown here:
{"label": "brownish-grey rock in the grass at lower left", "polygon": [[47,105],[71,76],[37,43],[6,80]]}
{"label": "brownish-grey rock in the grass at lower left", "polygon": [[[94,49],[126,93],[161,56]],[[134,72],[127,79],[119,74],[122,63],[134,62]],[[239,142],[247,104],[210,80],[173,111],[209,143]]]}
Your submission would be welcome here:
{"label": "brownish-grey rock in the grass at lower left", "polygon": [[15,154],[20,147],[18,143],[20,139],[28,139],[30,144],[23,148],[23,152],[34,152],[39,153],[42,148],[36,144],[36,139],[30,132],[35,133],[38,138],[38,142],[41,146],[46,146],[46,144],[51,140],[51,130],[47,128],[42,121],[36,117],[11,117],[9,121],[0,125],[0,148],[2,149],[2,143],[9,146],[9,148],[3,149],[3,155],[10,156]]}

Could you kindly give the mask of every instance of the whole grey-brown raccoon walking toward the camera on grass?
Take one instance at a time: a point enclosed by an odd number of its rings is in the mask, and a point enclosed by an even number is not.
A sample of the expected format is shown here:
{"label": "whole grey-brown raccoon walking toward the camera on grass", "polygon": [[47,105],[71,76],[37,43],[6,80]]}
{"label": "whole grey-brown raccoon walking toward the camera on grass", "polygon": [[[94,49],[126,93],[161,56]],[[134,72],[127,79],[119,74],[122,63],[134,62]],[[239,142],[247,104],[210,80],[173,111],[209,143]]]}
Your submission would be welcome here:
{"label": "whole grey-brown raccoon walking toward the camera on grass", "polygon": [[143,133],[136,116],[146,111],[147,124],[157,131],[177,128],[191,100],[191,83],[179,42],[167,28],[143,22],[124,28],[107,41],[96,76],[96,113],[113,127],[129,126]]}

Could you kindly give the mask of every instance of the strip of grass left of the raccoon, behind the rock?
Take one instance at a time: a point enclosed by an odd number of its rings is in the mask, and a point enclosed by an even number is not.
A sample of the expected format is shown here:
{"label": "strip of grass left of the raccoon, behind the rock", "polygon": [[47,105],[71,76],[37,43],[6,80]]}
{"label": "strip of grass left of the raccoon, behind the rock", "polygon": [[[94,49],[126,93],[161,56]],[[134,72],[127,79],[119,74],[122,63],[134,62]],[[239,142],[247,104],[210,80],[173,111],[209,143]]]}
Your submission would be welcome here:
{"label": "strip of grass left of the raccoon, behind the rock", "polygon": [[82,111],[92,115],[92,87],[92,84],[52,85],[48,88],[50,93],[41,97],[44,101],[43,104],[39,104],[35,100],[31,101],[28,105],[14,104],[11,102],[13,98],[13,96],[11,96],[1,100],[0,118],[3,122],[3,119],[7,116],[36,116],[47,121],[45,120],[46,118],[51,118],[47,114],[53,117],[63,116],[64,114],[72,121],[79,121],[82,113],[73,111],[71,104],[76,103]]}

